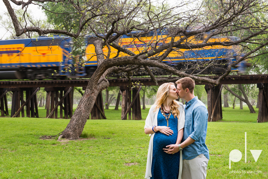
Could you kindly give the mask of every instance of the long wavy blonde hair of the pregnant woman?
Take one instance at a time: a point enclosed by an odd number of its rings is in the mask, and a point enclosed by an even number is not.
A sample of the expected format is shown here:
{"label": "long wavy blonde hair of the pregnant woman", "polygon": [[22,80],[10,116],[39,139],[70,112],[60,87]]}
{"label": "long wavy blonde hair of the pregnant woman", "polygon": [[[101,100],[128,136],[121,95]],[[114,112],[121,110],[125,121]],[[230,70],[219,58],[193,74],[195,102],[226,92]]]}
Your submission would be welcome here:
{"label": "long wavy blonde hair of the pregnant woman", "polygon": [[[174,83],[164,83],[163,85],[159,86],[156,94],[156,100],[154,105],[156,105],[156,109],[160,108],[162,103],[165,101],[167,96],[169,95],[169,86],[174,85]],[[180,111],[178,110],[179,104],[178,102],[174,99],[171,103],[171,109],[172,109],[172,114],[174,115],[174,118],[179,118]]]}

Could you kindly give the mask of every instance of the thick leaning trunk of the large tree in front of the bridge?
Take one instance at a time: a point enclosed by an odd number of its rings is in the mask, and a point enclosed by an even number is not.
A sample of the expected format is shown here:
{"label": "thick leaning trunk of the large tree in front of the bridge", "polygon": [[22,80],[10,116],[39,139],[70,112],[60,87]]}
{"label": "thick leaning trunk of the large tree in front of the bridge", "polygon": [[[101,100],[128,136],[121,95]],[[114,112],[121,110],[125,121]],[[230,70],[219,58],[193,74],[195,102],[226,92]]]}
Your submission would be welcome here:
{"label": "thick leaning trunk of the large tree in front of the bridge", "polygon": [[107,73],[110,74],[111,71],[106,70],[102,64],[104,60],[102,51],[103,41],[95,39],[93,44],[95,46],[95,53],[98,54],[98,67],[89,80],[88,86],[74,112],[74,115],[71,117],[66,129],[60,134],[58,140],[61,138],[79,139],[98,94],[109,86],[109,82],[106,80],[105,75],[107,75]]}

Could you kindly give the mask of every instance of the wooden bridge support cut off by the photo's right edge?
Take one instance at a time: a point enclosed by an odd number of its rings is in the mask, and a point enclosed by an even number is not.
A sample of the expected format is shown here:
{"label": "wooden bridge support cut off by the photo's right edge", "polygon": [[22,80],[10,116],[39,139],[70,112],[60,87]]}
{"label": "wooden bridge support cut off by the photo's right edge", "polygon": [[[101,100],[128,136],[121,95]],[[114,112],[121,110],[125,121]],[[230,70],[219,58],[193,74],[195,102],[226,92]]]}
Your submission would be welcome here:
{"label": "wooden bridge support cut off by the photo's right edge", "polygon": [[268,83],[257,83],[259,88],[259,113],[257,122],[268,122]]}

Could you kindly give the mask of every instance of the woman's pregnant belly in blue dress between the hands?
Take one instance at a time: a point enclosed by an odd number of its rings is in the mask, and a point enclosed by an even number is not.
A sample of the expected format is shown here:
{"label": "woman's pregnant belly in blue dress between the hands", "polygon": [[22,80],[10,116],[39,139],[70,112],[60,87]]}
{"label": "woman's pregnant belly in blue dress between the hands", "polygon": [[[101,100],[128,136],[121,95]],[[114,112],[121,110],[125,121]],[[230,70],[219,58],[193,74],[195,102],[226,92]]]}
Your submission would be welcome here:
{"label": "woman's pregnant belly in blue dress between the hands", "polygon": [[167,145],[175,144],[177,141],[177,133],[167,136],[166,134],[157,132],[154,136],[153,148],[166,148]]}

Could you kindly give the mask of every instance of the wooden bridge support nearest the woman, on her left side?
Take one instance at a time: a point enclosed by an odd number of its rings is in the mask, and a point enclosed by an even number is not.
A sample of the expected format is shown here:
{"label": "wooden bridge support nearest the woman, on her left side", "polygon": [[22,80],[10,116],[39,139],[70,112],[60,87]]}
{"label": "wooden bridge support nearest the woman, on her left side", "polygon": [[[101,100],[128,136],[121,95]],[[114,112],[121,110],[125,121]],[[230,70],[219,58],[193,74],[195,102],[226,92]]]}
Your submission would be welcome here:
{"label": "wooden bridge support nearest the woman, on her left side", "polygon": [[132,102],[131,102],[131,91],[127,86],[120,86],[122,91],[122,111],[121,119],[126,120],[127,114],[128,119],[131,120],[131,109],[132,109],[132,120],[141,120],[141,101],[140,91],[141,87],[132,90]]}

